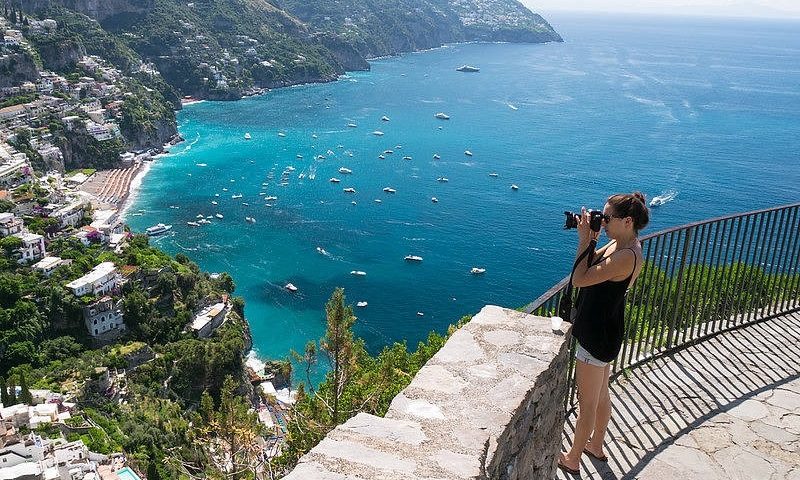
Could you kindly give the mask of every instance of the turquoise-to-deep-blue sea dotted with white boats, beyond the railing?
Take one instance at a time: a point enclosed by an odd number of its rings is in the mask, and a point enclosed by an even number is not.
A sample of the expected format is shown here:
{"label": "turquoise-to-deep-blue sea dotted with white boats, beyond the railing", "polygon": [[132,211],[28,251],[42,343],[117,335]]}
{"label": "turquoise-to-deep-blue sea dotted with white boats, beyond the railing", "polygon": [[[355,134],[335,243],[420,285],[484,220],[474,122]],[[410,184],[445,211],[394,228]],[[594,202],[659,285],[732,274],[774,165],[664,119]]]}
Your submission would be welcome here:
{"label": "turquoise-to-deep-blue sea dotted with white boats, beyond the railing", "polygon": [[549,20],[564,43],[448,45],[188,106],[186,142],[153,166],[126,219],[172,224],[158,246],[230,272],[255,351],[285,358],[323,335],[337,286],[373,352],[486,304],[527,304],[571,266],[563,211],[611,193],[671,198],[645,232],[800,200],[800,23]]}

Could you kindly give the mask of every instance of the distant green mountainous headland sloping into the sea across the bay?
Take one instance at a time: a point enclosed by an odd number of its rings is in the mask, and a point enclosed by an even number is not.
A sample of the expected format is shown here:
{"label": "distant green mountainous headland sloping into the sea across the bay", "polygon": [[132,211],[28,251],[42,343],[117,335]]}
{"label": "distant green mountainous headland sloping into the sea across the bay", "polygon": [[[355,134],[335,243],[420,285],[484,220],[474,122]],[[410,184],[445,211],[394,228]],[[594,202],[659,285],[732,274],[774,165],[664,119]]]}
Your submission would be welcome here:
{"label": "distant green mountainous headland sloping into the sea across the bay", "polygon": [[177,95],[211,100],[333,81],[368,70],[367,58],[445,43],[562,41],[515,0],[33,0],[30,8],[69,31],[60,45],[71,40],[126,72],[152,64]]}

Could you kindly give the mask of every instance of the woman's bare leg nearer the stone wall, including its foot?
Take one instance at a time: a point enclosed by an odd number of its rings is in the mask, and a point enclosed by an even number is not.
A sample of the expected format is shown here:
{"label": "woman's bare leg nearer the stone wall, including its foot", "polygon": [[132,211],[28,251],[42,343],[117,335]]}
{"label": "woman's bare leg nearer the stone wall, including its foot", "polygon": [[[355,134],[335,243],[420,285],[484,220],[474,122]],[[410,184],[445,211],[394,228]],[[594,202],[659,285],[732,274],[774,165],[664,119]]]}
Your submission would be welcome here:
{"label": "woman's bare leg nearer the stone wall, including its foot", "polygon": [[604,367],[596,367],[578,360],[575,362],[575,382],[578,386],[578,419],[575,422],[575,439],[570,451],[561,456],[561,463],[577,470],[581,454],[594,429],[597,417],[597,403],[603,382],[606,381]]}

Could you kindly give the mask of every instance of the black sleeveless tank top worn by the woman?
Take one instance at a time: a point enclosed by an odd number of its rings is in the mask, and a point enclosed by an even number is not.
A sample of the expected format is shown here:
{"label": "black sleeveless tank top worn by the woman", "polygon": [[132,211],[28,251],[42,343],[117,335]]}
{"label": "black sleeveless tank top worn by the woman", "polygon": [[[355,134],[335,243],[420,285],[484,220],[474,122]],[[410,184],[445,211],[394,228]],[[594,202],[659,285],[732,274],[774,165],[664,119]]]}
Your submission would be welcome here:
{"label": "black sleeveless tank top worn by the woman", "polygon": [[[626,248],[623,250],[631,250]],[[605,260],[593,263],[592,266]],[[611,362],[622,348],[625,336],[625,292],[636,271],[636,252],[633,271],[622,281],[605,282],[581,288],[578,293],[577,315],[572,326],[572,335],[583,348],[602,362]]]}

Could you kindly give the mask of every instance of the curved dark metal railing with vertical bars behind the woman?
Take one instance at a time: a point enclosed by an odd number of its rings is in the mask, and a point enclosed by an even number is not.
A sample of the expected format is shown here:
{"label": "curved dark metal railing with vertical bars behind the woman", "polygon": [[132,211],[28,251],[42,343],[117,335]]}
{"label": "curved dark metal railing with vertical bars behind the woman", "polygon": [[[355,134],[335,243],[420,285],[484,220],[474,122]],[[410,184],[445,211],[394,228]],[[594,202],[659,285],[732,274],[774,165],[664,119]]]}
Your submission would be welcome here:
{"label": "curved dark metal railing with vertical bars behind the woman", "polygon": [[[720,332],[800,309],[800,203],[713,218],[641,238],[611,377]],[[556,315],[569,277],[525,307]],[[574,348],[565,407],[575,403]]]}

